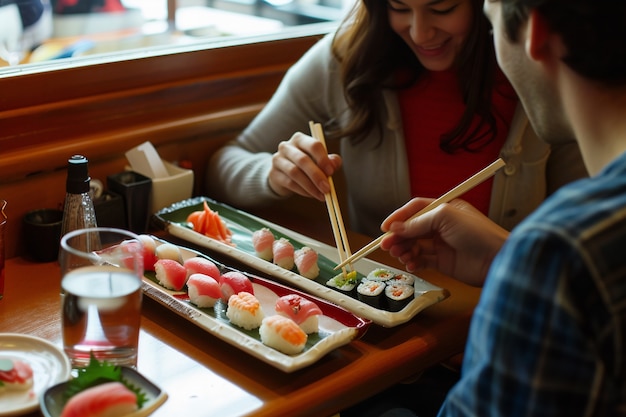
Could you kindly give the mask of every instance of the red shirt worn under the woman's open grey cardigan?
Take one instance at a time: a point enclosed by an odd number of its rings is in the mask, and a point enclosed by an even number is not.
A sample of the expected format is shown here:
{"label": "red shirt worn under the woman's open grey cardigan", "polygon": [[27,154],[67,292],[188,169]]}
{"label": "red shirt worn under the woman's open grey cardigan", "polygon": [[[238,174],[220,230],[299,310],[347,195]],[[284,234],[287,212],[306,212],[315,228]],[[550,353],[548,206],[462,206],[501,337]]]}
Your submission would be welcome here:
{"label": "red shirt worn under the woman's open grey cardigan", "polygon": [[[498,158],[517,106],[517,96],[501,72],[498,83],[493,93],[493,104],[500,114],[496,116],[498,134],[479,152],[449,154],[439,147],[441,135],[456,127],[465,110],[454,72],[428,72],[399,93],[413,197],[437,198]],[[475,117],[473,123],[478,120]],[[488,128],[485,125],[483,132]],[[487,214],[492,183],[485,181],[461,198]]]}

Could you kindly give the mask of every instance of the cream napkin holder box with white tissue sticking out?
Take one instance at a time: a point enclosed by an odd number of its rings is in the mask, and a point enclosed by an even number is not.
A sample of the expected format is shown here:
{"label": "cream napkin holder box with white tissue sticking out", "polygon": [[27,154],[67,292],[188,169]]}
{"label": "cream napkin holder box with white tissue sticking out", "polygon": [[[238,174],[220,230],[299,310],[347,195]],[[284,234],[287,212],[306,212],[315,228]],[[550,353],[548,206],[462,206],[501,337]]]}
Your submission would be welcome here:
{"label": "cream napkin holder box with white tissue sticking out", "polygon": [[169,176],[152,178],[151,211],[156,213],[178,201],[191,198],[193,171],[163,161]]}

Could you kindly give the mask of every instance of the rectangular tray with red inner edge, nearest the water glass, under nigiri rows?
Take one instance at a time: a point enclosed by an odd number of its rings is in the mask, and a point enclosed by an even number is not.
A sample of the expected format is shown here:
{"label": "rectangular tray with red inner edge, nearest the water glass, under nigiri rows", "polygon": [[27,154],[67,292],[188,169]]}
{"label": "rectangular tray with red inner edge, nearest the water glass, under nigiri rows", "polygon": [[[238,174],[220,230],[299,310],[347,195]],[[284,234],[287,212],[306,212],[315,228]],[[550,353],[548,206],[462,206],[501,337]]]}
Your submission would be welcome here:
{"label": "rectangular tray with red inner edge, nearest the water glass, under nigiri rows", "polygon": [[[156,238],[155,240],[157,240],[157,248],[158,245],[167,244],[171,246],[171,244],[163,240]],[[176,290],[166,288],[169,285],[164,285],[162,276],[158,275],[162,273],[160,269],[157,268],[156,272],[145,271],[142,289],[146,296],[156,300],[164,307],[208,333],[284,372],[293,372],[315,363],[332,350],[361,337],[371,323],[371,321],[359,318],[350,311],[323,299],[262,277],[229,268],[197,251],[182,247],[178,248],[180,249],[183,262],[191,258],[201,257],[215,263],[222,275],[226,275],[229,272],[245,275],[251,281],[251,291],[259,300],[260,307],[266,317],[276,315],[274,309],[276,308],[277,299],[286,295],[295,294],[312,301],[319,307],[322,314],[317,319],[318,330],[308,335],[301,352],[287,354],[264,343],[259,328],[246,329],[233,324],[231,319],[229,319],[227,311],[227,307],[230,308],[230,303],[227,305],[220,300],[212,307],[198,307],[194,303],[197,301],[192,298],[190,295],[191,291],[188,289],[181,288]],[[234,298],[234,296],[231,298]]]}

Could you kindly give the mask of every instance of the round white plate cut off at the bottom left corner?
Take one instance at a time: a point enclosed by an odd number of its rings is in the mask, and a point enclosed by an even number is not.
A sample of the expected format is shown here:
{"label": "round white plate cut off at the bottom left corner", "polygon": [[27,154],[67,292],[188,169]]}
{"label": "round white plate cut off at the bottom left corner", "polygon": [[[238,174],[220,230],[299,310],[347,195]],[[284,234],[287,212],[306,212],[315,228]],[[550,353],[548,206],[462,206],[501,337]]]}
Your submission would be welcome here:
{"label": "round white plate cut off at the bottom left corner", "polygon": [[21,360],[33,368],[29,390],[0,391],[0,416],[19,416],[39,408],[39,396],[52,385],[67,381],[72,367],[61,348],[45,339],[0,333],[0,358]]}

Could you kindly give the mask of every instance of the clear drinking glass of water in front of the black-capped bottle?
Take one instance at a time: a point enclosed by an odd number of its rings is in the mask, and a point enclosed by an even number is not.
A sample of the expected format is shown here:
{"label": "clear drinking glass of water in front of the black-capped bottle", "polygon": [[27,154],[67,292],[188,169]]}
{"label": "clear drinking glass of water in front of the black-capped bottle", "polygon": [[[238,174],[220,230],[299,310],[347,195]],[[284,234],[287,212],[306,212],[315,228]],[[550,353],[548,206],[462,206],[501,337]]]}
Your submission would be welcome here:
{"label": "clear drinking glass of water in front of the black-capped bottle", "polygon": [[96,227],[61,238],[62,330],[74,367],[91,355],[136,367],[143,245],[136,234]]}

